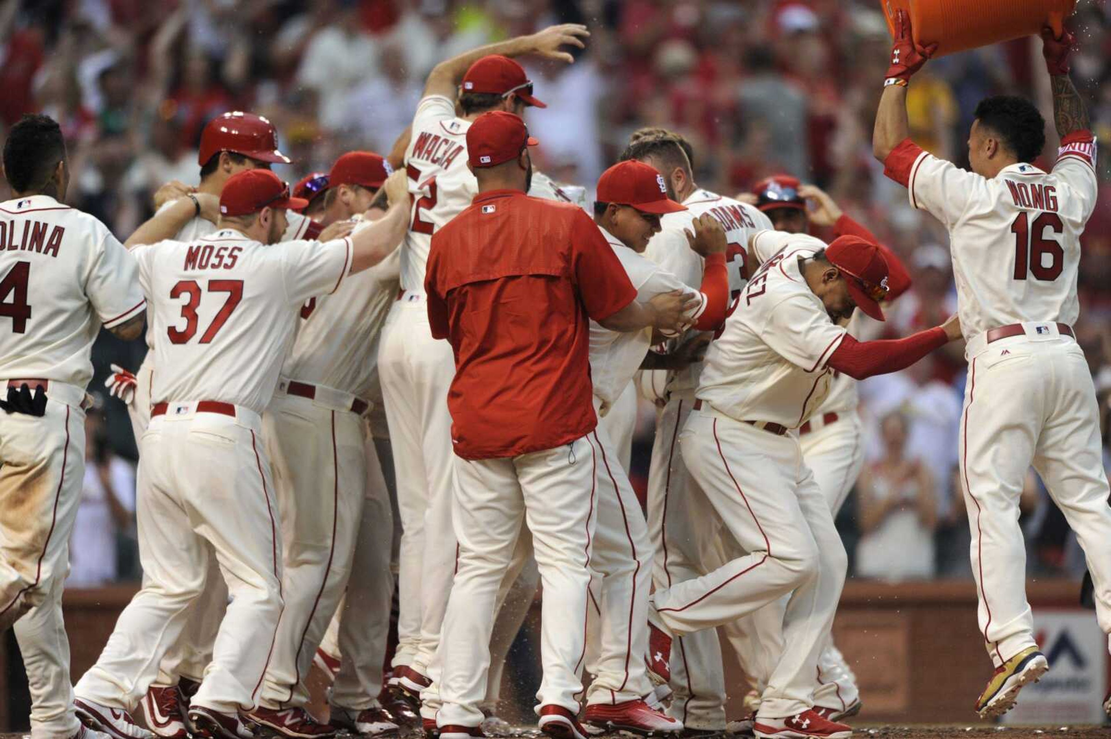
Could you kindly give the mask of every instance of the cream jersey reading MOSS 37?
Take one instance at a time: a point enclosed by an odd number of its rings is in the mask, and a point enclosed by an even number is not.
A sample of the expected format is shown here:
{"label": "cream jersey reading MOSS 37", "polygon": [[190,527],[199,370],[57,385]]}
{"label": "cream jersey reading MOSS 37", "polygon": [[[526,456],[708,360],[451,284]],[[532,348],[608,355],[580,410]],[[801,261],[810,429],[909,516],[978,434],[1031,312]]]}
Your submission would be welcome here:
{"label": "cream jersey reading MOSS 37", "polygon": [[159,331],[151,402],[222,401],[261,413],[309,297],[336,290],[348,239],[262,244],[232,229],[137,246]]}

